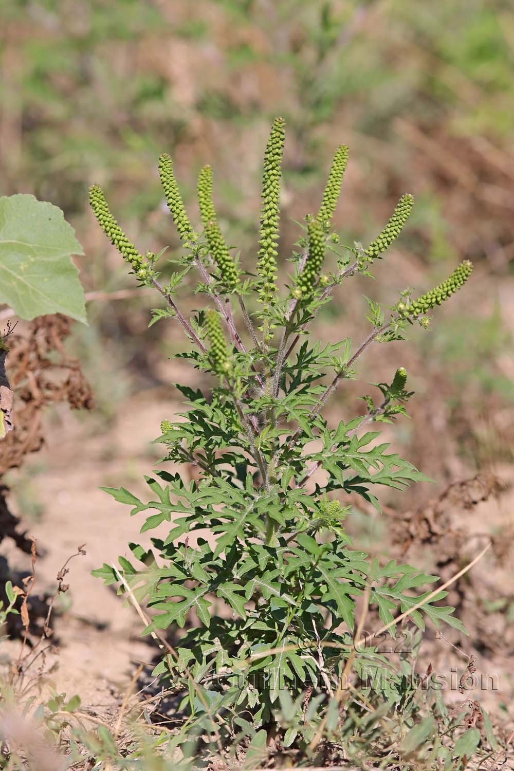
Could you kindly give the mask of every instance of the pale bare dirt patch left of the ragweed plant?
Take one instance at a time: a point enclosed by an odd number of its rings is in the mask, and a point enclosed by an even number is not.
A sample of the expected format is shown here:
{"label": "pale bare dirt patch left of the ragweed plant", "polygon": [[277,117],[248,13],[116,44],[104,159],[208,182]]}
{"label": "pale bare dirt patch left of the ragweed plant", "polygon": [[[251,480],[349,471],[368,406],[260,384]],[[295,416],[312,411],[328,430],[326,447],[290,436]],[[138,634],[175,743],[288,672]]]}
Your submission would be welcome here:
{"label": "pale bare dirt patch left of the ragweed plant", "polygon": [[[152,473],[160,453],[149,443],[169,412],[169,402],[127,399],[107,435],[92,430],[94,420],[63,413],[55,418],[59,426],[49,432],[37,460],[29,459],[29,473],[31,463],[32,473],[36,465],[44,468],[33,477],[44,513],[39,521],[24,520],[43,554],[36,563],[35,594],[55,593],[60,567],[86,544],[86,556],[69,563],[69,591],[64,595],[69,608],[55,616],[59,655],[50,655],[45,669],[52,672],[39,685],[46,682],[68,696],[79,694],[83,705],[100,713],[116,709],[136,665],[151,662],[156,646],[140,637],[143,625],[133,609],[91,571],[104,562],[117,564],[119,554],[129,557],[129,541],[150,546],[150,536],[159,530],[139,537],[142,523],[129,517],[129,507],[98,488],[126,485],[134,493],[147,494],[143,474]],[[13,569],[29,570],[29,557],[13,548],[4,549],[4,554]],[[19,643],[8,645],[15,655]]]}

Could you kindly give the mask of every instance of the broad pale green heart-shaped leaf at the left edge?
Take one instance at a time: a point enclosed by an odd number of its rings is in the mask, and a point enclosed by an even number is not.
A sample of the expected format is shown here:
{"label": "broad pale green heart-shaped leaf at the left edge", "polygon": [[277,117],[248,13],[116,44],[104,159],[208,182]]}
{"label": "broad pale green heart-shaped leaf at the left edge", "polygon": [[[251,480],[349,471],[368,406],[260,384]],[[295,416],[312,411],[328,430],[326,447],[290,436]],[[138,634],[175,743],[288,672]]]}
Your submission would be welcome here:
{"label": "broad pale green heart-shaped leaf at the left edge", "polygon": [[84,254],[62,211],[32,195],[0,198],[0,302],[20,318],[63,313],[86,324],[72,254]]}

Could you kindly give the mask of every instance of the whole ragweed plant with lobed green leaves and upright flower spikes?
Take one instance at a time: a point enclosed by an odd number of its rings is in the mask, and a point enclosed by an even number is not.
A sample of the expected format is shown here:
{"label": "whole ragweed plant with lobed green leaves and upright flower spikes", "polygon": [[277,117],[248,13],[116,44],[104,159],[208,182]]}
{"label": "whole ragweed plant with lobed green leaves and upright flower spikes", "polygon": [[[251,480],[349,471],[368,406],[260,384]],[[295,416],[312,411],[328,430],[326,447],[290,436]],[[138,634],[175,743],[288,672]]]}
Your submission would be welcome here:
{"label": "whole ragweed plant with lobed green leaves and upright flower spikes", "polygon": [[[191,757],[202,742],[220,749],[251,739],[250,747],[259,746],[263,729],[281,746],[314,751],[340,726],[341,683],[350,670],[361,680],[373,675],[370,698],[399,709],[407,698],[404,675],[376,647],[354,646],[357,602],[364,607],[360,613],[370,608],[391,631],[398,614],[407,614],[421,630],[428,619],[463,631],[453,608],[440,602],[447,593],[426,588],[436,576],[394,560],[369,560],[345,532],[350,494],[380,511],[378,486],[401,490],[425,480],[388,444],[377,442],[378,432],[366,429],[405,414],[412,396],[407,372],[399,367],[391,383],[378,384],[378,406],[363,397],[365,414],[330,426],[323,410],[344,380],[357,378],[355,365],[371,345],[404,338],[409,325],[426,326],[426,311],[462,286],[471,264],[463,262],[417,301],[410,290],[401,291],[390,308],[368,301],[371,328],[358,345],[348,338],[335,345],[312,342],[309,325],[317,311],[339,284],[369,274],[400,234],[413,199],[401,197],[368,247],[338,246],[331,219],[348,160],[348,148],[339,147],[320,209],[305,218],[294,269],[279,291],[283,147],[284,121],[277,119],[264,157],[258,255],[243,268],[217,221],[210,167],[198,180],[203,232],[197,233],[171,160],[160,159],[183,246],[180,271],[167,281],[156,271],[155,255],[139,253],[102,192],[91,189],[92,209],[106,235],[139,283],[166,301],[153,311],[151,323],[170,318],[182,325],[190,343],[183,356],[203,372],[203,388],[177,386],[187,410],[178,420],[166,416],[156,439],[166,448],[163,461],[195,466],[194,480],[180,470],[158,470],[146,479],[148,501],[124,488],[107,489],[132,514],[153,512],[142,532],[170,522],[169,533],[153,538],[151,551],[129,544],[136,564],[120,557],[119,569],[104,565],[95,571],[106,583],[123,577],[136,601],[147,598],[153,612],[147,632],[186,628],[155,674],[183,692],[180,741],[187,737]],[[176,294],[193,270],[207,307],[186,318]],[[375,678],[382,671],[388,676]]]}

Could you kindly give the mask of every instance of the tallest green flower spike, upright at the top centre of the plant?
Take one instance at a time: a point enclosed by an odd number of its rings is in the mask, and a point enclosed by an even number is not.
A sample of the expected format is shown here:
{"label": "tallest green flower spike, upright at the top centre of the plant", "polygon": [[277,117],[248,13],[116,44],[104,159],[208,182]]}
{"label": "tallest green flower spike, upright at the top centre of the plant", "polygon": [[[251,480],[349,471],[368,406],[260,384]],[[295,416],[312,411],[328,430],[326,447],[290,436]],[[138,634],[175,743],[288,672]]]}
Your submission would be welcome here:
{"label": "tallest green flower spike, upright at the top centre of the plant", "polygon": [[259,299],[267,306],[273,301],[277,281],[278,221],[280,216],[281,167],[284,151],[285,122],[276,118],[264,153],[264,175],[262,183],[262,208],[260,210],[259,261],[257,273],[260,276]]}

